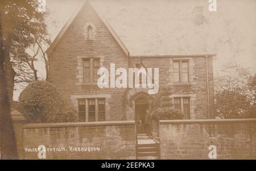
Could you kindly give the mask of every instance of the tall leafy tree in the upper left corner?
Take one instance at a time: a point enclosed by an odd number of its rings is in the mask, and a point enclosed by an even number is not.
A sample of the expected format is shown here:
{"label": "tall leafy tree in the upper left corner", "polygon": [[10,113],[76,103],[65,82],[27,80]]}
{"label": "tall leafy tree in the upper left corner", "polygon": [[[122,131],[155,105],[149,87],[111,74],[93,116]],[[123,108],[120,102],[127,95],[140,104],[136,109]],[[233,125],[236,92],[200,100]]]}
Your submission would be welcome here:
{"label": "tall leafy tree in the upper left corner", "polygon": [[[14,83],[29,80],[31,74],[35,74],[36,70],[31,73],[32,65],[28,65],[26,62],[26,59],[30,58],[26,50],[35,45],[38,37],[47,35],[44,23],[46,13],[38,11],[39,2],[37,0],[3,0],[0,5],[3,9],[1,12],[5,71],[9,99],[12,100]],[[30,59],[34,60],[34,58]],[[22,79],[19,80],[18,76],[21,76]]]}

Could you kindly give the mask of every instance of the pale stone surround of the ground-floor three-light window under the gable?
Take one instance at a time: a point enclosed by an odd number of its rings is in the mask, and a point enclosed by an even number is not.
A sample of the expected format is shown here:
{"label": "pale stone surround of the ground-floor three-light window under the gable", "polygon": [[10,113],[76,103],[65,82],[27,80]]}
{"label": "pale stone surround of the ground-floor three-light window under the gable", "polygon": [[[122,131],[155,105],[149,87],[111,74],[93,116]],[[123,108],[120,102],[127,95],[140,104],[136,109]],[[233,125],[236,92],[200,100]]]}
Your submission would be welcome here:
{"label": "pale stone surround of the ground-floor three-light window under the gable", "polygon": [[[78,100],[79,99],[105,99],[105,121],[109,121],[110,120],[110,106],[109,106],[109,102],[111,99],[111,95],[109,94],[101,94],[101,95],[71,95],[71,101],[72,104],[74,105],[74,108],[77,110],[77,119],[79,119],[78,116]],[[86,109],[87,110],[87,109]],[[88,122],[88,118],[86,118],[86,122]],[[98,122],[96,120],[96,122]]]}

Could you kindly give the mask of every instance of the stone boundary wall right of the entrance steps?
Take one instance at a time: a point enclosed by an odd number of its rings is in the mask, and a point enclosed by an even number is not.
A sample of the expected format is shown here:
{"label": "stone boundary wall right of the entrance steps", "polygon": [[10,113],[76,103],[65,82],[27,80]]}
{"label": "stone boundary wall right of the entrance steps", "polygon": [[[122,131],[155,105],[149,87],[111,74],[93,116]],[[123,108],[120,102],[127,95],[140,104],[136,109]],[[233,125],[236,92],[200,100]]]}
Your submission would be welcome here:
{"label": "stone boundary wall right of the entrance steps", "polygon": [[160,121],[161,159],[256,159],[256,119]]}

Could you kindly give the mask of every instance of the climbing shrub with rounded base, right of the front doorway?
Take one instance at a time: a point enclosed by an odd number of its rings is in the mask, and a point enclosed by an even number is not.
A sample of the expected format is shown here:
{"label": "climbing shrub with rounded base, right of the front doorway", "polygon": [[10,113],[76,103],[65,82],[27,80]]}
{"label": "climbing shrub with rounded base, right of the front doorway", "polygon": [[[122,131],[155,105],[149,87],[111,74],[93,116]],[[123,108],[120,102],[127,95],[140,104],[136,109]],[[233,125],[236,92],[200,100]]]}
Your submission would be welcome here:
{"label": "climbing shrub with rounded base, right of the front doorway", "polygon": [[150,117],[155,120],[161,119],[183,119],[183,113],[179,109],[174,109],[170,97],[172,88],[170,86],[162,86],[155,98],[155,109],[151,111]]}

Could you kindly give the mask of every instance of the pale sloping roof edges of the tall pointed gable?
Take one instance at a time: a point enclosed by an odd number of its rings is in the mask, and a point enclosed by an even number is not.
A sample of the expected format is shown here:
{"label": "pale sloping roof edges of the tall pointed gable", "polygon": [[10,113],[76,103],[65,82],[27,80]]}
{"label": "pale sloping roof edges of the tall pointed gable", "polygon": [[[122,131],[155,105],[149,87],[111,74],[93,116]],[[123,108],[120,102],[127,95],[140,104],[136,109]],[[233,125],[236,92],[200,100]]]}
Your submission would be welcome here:
{"label": "pale sloping roof edges of the tall pointed gable", "polygon": [[[76,19],[77,15],[79,14],[79,12],[82,10],[82,8],[84,8],[85,5],[90,5],[89,1],[85,1],[83,3],[83,5],[79,6],[75,12],[71,15],[71,17],[68,19],[68,22],[64,25],[64,27],[61,29],[61,31],[59,32],[59,34],[56,36],[55,40],[53,40],[51,46],[49,46],[49,48],[47,49],[47,54],[51,55],[51,53],[53,52],[53,50],[55,50],[57,44],[59,44],[59,41],[61,40],[61,37],[64,35],[64,33],[67,31],[67,29],[69,28],[69,26],[73,23],[73,21]],[[93,8],[93,6],[92,6]],[[94,10],[94,8],[93,8]],[[95,10],[94,10],[95,11]],[[95,11],[96,12],[96,11]],[[97,12],[96,12],[97,14]],[[97,14],[100,19],[102,20],[102,22],[105,24],[106,28],[108,28],[109,32],[112,34],[112,36],[114,37],[114,39],[117,41],[117,43],[119,44],[119,46],[121,46],[121,48],[123,49],[123,52],[125,52],[126,55],[129,55],[129,51],[126,48],[126,46],[123,44],[123,42],[119,39],[119,37],[117,36],[117,34],[115,33],[115,31],[113,30],[113,28],[109,25],[108,22],[106,22],[106,20],[100,16],[99,14]]]}

